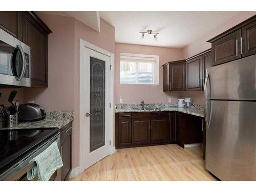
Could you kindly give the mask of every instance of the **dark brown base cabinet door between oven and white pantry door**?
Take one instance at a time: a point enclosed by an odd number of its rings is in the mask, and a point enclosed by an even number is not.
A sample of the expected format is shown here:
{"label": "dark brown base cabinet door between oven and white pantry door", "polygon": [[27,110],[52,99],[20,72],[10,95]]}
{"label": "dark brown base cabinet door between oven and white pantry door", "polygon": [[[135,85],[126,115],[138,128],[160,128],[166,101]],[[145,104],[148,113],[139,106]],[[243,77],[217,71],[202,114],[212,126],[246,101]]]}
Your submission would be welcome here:
{"label": "dark brown base cabinet door between oven and white pantry door", "polygon": [[61,181],[64,181],[71,169],[71,135],[61,143],[60,153],[63,162],[63,166],[60,169]]}

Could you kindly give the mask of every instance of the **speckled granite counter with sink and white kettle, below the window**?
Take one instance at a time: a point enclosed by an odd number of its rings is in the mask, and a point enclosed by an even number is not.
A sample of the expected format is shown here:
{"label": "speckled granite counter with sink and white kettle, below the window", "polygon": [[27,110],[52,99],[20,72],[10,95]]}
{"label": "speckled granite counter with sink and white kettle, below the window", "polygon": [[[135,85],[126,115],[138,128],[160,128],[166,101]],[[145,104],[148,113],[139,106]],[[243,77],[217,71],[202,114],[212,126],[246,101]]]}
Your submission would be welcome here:
{"label": "speckled granite counter with sink and white kettle, below the window", "polygon": [[142,110],[140,104],[117,104],[115,109],[115,113],[161,111],[178,111],[190,115],[204,117],[204,109],[200,105],[191,106],[189,108],[178,108],[177,104],[145,104],[144,110]]}

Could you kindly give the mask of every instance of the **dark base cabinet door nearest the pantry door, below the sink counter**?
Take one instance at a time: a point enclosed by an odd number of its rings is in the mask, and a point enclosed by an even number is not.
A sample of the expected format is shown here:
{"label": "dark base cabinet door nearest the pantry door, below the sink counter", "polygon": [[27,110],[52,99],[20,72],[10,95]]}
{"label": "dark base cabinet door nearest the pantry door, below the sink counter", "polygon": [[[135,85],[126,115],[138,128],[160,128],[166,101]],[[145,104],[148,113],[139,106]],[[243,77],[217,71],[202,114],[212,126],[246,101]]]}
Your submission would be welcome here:
{"label": "dark base cabinet door nearest the pantry door, below the sink counter", "polygon": [[129,146],[132,144],[132,123],[131,119],[119,119],[118,125],[118,146]]}

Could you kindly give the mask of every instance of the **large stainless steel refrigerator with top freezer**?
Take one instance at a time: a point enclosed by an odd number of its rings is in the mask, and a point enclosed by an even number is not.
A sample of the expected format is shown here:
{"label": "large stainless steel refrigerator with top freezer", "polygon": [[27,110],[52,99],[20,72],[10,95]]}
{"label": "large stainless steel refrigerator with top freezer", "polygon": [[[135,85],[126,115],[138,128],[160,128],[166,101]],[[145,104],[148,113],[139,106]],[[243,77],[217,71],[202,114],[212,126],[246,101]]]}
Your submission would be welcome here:
{"label": "large stainless steel refrigerator with top freezer", "polygon": [[206,169],[223,181],[256,181],[256,55],[207,70]]}

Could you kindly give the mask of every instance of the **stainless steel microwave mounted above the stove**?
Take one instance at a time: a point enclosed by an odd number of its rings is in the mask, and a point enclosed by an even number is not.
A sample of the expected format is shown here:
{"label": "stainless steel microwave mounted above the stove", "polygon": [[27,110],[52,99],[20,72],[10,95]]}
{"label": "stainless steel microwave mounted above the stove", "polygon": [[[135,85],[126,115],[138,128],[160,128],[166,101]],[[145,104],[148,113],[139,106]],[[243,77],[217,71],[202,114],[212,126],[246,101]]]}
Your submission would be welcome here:
{"label": "stainless steel microwave mounted above the stove", "polygon": [[0,84],[30,87],[30,47],[0,29]]}

